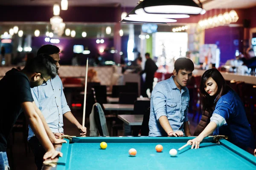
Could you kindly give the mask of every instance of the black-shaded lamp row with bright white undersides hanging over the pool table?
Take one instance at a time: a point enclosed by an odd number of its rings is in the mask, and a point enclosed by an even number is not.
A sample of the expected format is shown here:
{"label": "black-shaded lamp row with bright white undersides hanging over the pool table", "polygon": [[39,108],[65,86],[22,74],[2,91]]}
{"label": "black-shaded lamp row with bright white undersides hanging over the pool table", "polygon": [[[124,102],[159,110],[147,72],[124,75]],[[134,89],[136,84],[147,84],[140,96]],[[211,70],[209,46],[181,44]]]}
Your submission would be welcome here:
{"label": "black-shaded lamp row with bright white undersides hanging over the pool table", "polygon": [[204,14],[202,4],[193,0],[141,0],[121,20],[125,23],[172,23],[175,18],[189,18],[189,15]]}

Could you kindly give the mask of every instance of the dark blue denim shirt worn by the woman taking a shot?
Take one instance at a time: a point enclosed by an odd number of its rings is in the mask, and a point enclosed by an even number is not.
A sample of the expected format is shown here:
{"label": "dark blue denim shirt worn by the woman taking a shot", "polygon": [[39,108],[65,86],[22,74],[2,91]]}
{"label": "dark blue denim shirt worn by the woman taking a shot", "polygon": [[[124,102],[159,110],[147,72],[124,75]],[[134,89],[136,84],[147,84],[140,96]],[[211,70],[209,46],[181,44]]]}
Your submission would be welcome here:
{"label": "dark blue denim shirt worn by the woman taking a shot", "polygon": [[[220,115],[225,121],[213,116],[215,114]],[[227,135],[228,141],[236,146],[244,150],[247,150],[248,147],[254,149],[253,133],[243,103],[233,89],[230,89],[218,100],[211,121],[215,122],[218,127],[213,135]]]}

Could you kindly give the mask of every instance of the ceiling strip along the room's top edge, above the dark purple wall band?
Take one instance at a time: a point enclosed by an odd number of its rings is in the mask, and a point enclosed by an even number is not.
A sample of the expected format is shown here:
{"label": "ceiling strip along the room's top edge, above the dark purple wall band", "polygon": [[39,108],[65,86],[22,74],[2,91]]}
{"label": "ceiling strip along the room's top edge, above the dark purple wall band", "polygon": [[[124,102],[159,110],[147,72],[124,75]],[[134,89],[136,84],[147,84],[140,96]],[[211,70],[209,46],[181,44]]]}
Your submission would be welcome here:
{"label": "ceiling strip along the room's top edge, above the dark purple wall band", "polygon": [[[68,0],[69,6],[121,6],[135,7],[140,0]],[[198,3],[198,0],[194,0]],[[61,0],[0,0],[0,5],[52,6]],[[204,9],[250,8],[256,6],[256,0],[201,0]]]}

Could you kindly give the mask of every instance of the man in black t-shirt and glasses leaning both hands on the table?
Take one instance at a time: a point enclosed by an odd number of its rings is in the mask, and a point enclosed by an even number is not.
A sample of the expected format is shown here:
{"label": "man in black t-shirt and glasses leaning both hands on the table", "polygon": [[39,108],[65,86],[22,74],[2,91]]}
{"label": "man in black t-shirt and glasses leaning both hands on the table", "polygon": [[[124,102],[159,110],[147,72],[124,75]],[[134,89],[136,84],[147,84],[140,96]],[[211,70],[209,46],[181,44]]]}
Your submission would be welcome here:
{"label": "man in black t-shirt and glasses leaning both hands on the table", "polygon": [[[40,86],[57,75],[54,60],[47,55],[32,59],[23,70],[12,69],[0,80],[0,170],[8,170],[7,139],[18,116],[23,111],[46,153],[42,159],[62,156],[52,143],[66,142],[56,139],[49,130],[41,111],[36,107],[30,87]],[[48,136],[49,137],[48,137]],[[51,142],[52,141],[52,142]]]}

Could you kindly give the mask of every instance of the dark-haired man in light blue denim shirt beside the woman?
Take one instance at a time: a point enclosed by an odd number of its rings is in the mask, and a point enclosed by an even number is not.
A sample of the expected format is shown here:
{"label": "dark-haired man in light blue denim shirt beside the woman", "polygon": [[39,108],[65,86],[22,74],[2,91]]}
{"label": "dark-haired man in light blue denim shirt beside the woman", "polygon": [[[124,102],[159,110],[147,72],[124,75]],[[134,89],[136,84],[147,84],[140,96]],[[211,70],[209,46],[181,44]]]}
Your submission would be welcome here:
{"label": "dark-haired man in light blue denim shirt beside the woman", "polygon": [[194,63],[179,58],[174,64],[174,76],[154,87],[150,102],[149,136],[190,136],[187,112]]}

